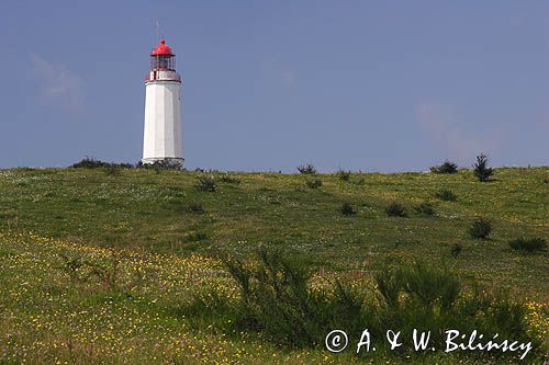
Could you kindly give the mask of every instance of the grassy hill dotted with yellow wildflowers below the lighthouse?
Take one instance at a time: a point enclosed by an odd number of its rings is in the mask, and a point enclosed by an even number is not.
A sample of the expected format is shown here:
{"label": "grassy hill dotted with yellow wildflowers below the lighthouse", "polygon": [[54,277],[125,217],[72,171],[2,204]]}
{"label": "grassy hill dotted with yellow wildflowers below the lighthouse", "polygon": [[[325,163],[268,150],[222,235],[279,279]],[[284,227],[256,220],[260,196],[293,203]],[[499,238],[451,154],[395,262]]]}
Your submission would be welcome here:
{"label": "grassy hill dotted with yellow wildflowers below the lighthouse", "polygon": [[[197,189],[204,175],[215,178],[215,191]],[[322,185],[311,187],[315,180]],[[303,255],[318,272],[344,278],[414,260],[446,263],[467,283],[506,288],[534,307],[547,304],[547,251],[525,254],[508,242],[549,238],[548,181],[549,168],[502,168],[485,183],[468,170],[352,173],[348,181],[337,174],[1,170],[0,362],[355,362],[322,350],[279,349],[249,333],[227,337],[175,313],[205,286],[236,295],[220,260],[250,260],[258,247]],[[437,197],[442,190],[456,199]],[[394,202],[405,217],[386,214]],[[344,203],[355,214],[341,214]],[[418,212],[422,203],[434,214]],[[479,217],[492,224],[486,240],[468,232]],[[81,280],[71,260],[93,262],[87,270],[101,280]],[[533,326],[547,335],[547,306],[536,316]]]}

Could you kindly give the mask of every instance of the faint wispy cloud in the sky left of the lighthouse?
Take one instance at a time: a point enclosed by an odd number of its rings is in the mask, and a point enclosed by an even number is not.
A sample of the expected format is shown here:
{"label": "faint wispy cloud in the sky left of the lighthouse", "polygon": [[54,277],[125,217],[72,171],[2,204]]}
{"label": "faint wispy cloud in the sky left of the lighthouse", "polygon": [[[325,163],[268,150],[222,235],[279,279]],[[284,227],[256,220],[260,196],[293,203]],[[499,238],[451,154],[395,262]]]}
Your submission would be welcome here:
{"label": "faint wispy cloud in the sky left of the lighthouse", "polygon": [[82,80],[63,65],[54,65],[37,55],[32,55],[32,68],[40,79],[40,100],[67,112],[83,109]]}

